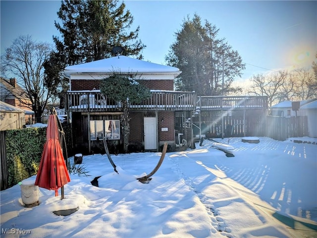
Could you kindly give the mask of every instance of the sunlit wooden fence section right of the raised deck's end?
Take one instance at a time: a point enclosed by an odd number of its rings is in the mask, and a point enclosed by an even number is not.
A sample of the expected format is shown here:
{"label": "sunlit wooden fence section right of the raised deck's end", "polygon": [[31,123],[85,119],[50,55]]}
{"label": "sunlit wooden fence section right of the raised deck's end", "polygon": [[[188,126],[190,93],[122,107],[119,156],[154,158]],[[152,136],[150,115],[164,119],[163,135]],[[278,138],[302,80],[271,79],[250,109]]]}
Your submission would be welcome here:
{"label": "sunlit wooden fence section right of the raised deck's end", "polygon": [[266,137],[277,141],[285,141],[291,137],[308,136],[307,116],[277,117],[266,116]]}

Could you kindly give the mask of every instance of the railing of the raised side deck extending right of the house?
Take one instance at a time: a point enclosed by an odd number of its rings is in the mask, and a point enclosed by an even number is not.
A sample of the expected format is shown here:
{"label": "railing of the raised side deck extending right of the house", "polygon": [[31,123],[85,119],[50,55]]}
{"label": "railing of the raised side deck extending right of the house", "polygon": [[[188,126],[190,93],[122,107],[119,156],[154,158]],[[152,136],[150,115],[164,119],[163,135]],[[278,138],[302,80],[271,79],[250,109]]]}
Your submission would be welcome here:
{"label": "railing of the raised side deck extending right of the house", "polygon": [[198,96],[197,107],[203,111],[267,109],[267,96]]}

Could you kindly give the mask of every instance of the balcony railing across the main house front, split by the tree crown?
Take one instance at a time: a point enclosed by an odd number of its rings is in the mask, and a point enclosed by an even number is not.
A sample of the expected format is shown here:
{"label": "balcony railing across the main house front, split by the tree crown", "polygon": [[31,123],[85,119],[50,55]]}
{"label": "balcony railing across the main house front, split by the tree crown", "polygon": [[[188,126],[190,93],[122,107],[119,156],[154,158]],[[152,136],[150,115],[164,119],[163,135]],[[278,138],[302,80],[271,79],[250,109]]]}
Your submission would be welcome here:
{"label": "balcony railing across the main house front, split by the tree crown", "polygon": [[[151,90],[151,96],[141,103],[130,103],[131,111],[142,110],[194,110],[195,92]],[[101,94],[100,90],[69,91],[66,93],[67,112],[106,112],[120,111],[121,102]]]}

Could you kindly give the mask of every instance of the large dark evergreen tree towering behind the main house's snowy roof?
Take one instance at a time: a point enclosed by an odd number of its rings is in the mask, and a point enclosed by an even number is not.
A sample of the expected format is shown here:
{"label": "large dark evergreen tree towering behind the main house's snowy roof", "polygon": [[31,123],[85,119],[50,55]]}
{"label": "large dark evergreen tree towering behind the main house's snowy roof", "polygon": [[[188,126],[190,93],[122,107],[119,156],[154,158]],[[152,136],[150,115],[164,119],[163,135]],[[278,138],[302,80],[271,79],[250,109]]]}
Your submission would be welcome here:
{"label": "large dark evergreen tree towering behind the main house's snowy roof", "polygon": [[[55,21],[61,38],[53,36],[56,50],[45,63],[50,81],[47,85],[57,89],[63,77],[60,72],[68,65],[91,62],[111,57],[111,50],[121,46],[123,55],[134,55],[142,59],[145,45],[138,40],[139,27],[129,29],[133,23],[130,11],[118,0],[63,0]],[[67,81],[66,79],[64,79]],[[55,90],[58,94],[59,90]]]}

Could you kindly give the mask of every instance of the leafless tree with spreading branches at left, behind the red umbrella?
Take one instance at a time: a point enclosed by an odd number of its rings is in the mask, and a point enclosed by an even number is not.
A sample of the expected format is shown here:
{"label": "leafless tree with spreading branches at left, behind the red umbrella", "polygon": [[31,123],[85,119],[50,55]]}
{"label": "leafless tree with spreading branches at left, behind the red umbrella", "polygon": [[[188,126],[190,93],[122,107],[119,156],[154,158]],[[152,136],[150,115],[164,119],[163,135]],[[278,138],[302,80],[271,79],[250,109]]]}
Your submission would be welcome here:
{"label": "leafless tree with spreading branches at left, behind the red umbrella", "polygon": [[[29,108],[35,112],[37,122],[41,122],[44,108],[51,96],[45,87],[46,75],[43,63],[48,59],[52,47],[47,43],[36,43],[31,36],[19,36],[1,55],[1,75],[13,76],[30,99]],[[27,102],[24,102],[27,103]]]}

